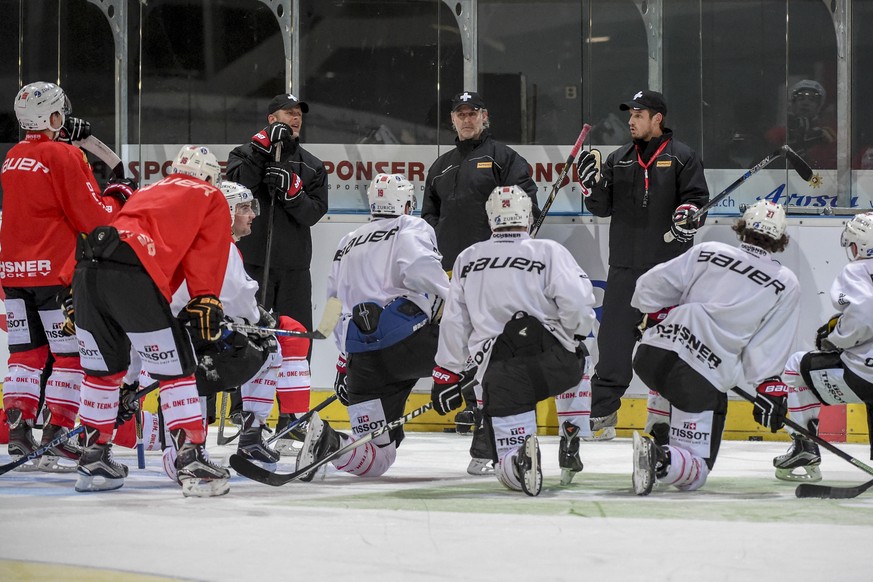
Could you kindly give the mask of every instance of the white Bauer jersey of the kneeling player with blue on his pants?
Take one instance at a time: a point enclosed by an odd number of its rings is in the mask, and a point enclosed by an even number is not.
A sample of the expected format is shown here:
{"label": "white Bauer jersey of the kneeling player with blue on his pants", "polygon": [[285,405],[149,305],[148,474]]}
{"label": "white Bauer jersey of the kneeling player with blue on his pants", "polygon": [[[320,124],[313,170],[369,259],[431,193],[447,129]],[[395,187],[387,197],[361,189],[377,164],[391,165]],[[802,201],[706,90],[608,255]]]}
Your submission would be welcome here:
{"label": "white Bauer jersey of the kneeling player with blue on his pants", "polygon": [[334,337],[345,352],[352,308],[387,305],[405,297],[432,320],[445,301],[449,278],[440,266],[433,227],[416,216],[377,218],[340,241],[327,279],[327,296],[343,305]]}

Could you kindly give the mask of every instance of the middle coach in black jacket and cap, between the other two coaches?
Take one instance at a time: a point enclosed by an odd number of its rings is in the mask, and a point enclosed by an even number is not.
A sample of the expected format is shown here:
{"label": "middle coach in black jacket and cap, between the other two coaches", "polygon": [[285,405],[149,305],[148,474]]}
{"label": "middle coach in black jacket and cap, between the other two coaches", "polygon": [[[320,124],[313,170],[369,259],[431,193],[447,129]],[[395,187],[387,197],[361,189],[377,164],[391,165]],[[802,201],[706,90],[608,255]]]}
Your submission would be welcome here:
{"label": "middle coach in black jacket and cap, between the other two coaches", "polygon": [[436,231],[446,271],[462,250],[491,238],[485,201],[497,186],[519,186],[531,197],[534,219],[540,212],[527,161],[491,138],[488,110],[478,93],[455,95],[452,124],[458,133],[455,149],[428,170],[421,206],[421,217]]}

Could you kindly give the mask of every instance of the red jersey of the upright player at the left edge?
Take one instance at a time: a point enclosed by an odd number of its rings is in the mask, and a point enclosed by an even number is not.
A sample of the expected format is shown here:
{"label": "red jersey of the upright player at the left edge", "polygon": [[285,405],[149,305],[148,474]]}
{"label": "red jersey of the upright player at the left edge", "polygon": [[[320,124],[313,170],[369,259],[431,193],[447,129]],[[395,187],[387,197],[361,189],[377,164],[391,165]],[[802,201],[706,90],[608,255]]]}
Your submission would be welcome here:
{"label": "red jersey of the upright player at the left edge", "polygon": [[76,235],[109,224],[119,209],[103,198],[79,148],[42,133],[9,150],[3,162],[0,280],[4,287],[61,285]]}

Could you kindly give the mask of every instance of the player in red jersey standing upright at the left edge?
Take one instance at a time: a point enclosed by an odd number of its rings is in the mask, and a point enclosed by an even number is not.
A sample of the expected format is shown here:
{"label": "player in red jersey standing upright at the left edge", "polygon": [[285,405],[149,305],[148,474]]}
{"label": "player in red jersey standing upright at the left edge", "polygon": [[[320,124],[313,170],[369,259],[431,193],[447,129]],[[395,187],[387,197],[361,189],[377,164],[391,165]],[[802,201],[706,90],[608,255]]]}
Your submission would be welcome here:
{"label": "player in red jersey standing upright at the left edge", "polygon": [[[32,429],[49,351],[54,364],[45,386],[49,419],[42,442],[75,423],[82,368],[75,338],[62,332],[64,317],[57,302],[63,289],[61,270],[72,258],[76,234],[109,224],[120,204],[101,195],[83,152],[59,141],[90,135],[87,122],[69,116],[69,100],[60,87],[45,82],[26,85],[13,107],[27,133],[9,150],[0,177],[0,279],[10,353],[3,405],[10,425],[9,454],[15,458],[37,447]],[[72,471],[75,463],[70,461],[78,454],[78,448],[67,442],[22,465],[22,470]]]}

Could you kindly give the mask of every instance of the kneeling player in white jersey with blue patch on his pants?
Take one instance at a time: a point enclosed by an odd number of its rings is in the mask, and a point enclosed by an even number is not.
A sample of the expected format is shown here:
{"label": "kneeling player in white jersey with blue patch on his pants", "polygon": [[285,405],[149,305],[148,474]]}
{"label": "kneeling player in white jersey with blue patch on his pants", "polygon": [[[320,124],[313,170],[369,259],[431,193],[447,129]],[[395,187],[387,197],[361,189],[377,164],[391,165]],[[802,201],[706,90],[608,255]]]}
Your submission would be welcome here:
{"label": "kneeling player in white jersey with blue patch on his pants", "polygon": [[[327,296],[338,298],[344,310],[334,330],[340,350],[334,388],[348,406],[352,435],[314,413],[298,469],[403,416],[416,381],[433,369],[435,320],[449,290],[436,235],[410,216],[414,188],[403,175],[376,175],[367,198],[372,220],[340,241],[327,281]],[[353,475],[378,477],[394,464],[402,440],[400,427],[332,463]],[[301,479],[313,477],[310,472]]]}

